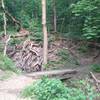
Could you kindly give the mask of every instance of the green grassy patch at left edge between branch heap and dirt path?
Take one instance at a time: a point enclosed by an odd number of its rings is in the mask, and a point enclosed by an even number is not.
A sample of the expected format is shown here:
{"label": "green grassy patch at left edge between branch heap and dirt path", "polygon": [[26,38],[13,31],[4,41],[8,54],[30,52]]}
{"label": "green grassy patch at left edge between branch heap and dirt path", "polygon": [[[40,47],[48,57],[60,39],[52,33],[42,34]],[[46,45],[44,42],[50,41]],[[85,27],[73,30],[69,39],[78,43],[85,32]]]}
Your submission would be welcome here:
{"label": "green grassy patch at left edge between branch heap and dirt path", "polygon": [[15,67],[13,61],[8,58],[7,56],[4,56],[3,54],[0,53],[0,69],[1,70],[9,70],[13,71],[16,73],[19,73],[20,71]]}

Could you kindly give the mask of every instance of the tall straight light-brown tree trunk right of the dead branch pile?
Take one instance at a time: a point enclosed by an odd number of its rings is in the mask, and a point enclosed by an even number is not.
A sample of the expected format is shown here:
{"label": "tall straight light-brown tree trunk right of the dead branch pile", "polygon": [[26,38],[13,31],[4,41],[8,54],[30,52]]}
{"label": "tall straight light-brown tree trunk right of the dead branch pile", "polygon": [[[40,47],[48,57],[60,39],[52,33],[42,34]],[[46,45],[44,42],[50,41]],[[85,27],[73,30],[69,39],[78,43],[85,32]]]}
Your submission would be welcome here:
{"label": "tall straight light-brown tree trunk right of the dead branch pile", "polygon": [[46,26],[46,0],[42,0],[42,25],[43,25],[43,64],[47,64],[48,58],[48,35],[47,35],[47,26]]}

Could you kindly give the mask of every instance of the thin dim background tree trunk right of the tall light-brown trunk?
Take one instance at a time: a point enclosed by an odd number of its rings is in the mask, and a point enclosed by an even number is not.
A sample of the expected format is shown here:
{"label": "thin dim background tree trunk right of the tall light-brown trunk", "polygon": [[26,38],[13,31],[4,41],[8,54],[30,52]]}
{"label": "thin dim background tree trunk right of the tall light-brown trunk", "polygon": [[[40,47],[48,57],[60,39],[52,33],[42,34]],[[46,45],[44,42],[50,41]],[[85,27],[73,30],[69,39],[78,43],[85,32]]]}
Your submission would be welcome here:
{"label": "thin dim background tree trunk right of the tall light-brown trunk", "polygon": [[53,14],[54,32],[57,32],[56,0],[53,0]]}

